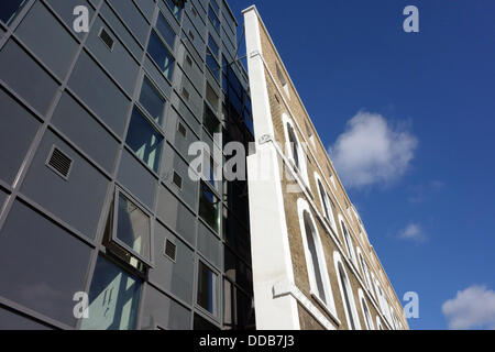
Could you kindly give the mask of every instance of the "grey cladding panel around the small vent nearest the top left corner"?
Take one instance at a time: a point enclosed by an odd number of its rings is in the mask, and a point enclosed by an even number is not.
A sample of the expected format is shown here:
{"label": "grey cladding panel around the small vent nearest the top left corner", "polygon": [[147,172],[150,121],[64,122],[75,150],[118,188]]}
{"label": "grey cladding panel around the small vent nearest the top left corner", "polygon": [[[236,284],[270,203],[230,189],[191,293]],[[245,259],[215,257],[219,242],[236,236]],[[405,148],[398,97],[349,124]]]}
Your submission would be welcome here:
{"label": "grey cladding panel around the small vent nearest the top left corner", "polygon": [[[122,1],[128,2],[128,1]],[[100,38],[101,29],[113,40],[113,47],[110,50]],[[100,18],[94,24],[94,30],[89,33],[87,46],[97,57],[101,65],[112,75],[112,77],[122,86],[129,96],[132,96],[139,66],[129,52],[123,47],[116,35],[103,24]]]}

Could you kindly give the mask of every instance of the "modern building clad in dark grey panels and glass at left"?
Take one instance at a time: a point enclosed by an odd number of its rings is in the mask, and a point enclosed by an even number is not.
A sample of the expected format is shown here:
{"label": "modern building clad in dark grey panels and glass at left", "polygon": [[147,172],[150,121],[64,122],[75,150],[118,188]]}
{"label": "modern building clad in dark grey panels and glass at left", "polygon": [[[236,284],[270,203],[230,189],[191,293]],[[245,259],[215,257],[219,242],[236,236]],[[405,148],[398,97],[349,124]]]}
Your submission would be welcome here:
{"label": "modern building clad in dark grey panels and glass at left", "polygon": [[253,141],[238,24],[183,2],[1,1],[0,329],[255,327],[246,182],[188,174]]}

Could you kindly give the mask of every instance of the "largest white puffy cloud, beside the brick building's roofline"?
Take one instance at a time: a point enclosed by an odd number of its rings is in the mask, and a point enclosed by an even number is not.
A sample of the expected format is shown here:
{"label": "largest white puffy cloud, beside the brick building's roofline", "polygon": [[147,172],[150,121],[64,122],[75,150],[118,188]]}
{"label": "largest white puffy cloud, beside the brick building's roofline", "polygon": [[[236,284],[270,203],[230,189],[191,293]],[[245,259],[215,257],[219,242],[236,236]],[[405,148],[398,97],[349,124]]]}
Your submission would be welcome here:
{"label": "largest white puffy cloud, beside the brick building's roofline", "polygon": [[407,170],[417,139],[383,116],[360,111],[330,148],[339,176],[349,187],[386,184]]}

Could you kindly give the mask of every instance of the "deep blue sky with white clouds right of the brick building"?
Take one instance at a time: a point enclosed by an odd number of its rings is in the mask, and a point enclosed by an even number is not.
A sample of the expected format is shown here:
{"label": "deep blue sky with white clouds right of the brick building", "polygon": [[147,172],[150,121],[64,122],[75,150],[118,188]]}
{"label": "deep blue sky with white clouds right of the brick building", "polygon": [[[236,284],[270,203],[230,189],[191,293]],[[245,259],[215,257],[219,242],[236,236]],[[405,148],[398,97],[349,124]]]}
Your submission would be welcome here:
{"label": "deep blue sky with white clouds right of the brick building", "polygon": [[397,295],[419,294],[410,328],[494,329],[495,1],[229,3],[256,4]]}

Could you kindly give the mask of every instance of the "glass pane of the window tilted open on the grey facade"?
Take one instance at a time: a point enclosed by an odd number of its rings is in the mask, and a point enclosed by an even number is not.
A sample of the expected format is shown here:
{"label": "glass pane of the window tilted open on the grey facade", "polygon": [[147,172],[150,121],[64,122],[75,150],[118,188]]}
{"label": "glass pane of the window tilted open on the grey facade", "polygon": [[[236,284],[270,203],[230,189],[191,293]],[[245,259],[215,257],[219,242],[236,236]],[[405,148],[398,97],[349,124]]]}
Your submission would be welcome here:
{"label": "glass pane of the window tilted open on the grey facade", "polygon": [[119,193],[117,238],[142,257],[150,260],[150,217]]}

